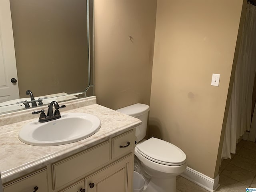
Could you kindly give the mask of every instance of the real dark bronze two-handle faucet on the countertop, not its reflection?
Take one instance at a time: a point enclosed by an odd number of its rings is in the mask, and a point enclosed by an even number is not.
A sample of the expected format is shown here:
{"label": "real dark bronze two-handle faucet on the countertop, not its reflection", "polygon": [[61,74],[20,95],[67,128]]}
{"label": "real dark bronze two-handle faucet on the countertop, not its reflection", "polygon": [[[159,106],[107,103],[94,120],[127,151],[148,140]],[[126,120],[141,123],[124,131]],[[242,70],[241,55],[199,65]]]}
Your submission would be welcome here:
{"label": "real dark bronze two-handle faucet on the countertop, not its reflection", "polygon": [[[52,109],[53,105],[54,105],[54,108],[55,108],[54,113],[53,113],[53,109]],[[48,121],[52,121],[52,120],[61,118],[59,109],[60,108],[65,108],[65,107],[66,107],[66,105],[59,106],[59,104],[56,101],[52,101],[48,105],[47,115],[44,113],[43,109],[40,110],[40,111],[33,111],[32,114],[34,115],[34,114],[41,113],[38,121],[40,123],[44,123],[44,122],[48,122]]]}

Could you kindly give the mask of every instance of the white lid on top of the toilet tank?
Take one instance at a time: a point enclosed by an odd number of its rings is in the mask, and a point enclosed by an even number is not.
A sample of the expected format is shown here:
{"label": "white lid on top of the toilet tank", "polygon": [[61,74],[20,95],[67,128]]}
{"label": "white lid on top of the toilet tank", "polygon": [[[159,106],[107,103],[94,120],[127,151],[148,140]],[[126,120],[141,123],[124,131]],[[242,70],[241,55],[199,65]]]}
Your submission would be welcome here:
{"label": "white lid on top of the toilet tank", "polygon": [[140,116],[149,111],[149,106],[141,103],[136,103],[127,107],[116,110],[120,113],[130,115],[132,117]]}

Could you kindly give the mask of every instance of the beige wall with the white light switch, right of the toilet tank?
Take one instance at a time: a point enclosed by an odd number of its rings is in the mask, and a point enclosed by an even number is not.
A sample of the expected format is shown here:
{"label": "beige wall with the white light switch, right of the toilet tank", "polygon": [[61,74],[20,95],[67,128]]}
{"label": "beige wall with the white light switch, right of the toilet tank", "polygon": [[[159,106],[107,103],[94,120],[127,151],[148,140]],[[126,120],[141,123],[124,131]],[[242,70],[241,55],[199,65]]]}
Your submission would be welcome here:
{"label": "beige wall with the white light switch, right of the toilet tank", "polygon": [[[211,178],[218,174],[242,3],[157,3],[149,134],[181,148],[188,166]],[[220,74],[219,87],[211,86],[212,73]]]}

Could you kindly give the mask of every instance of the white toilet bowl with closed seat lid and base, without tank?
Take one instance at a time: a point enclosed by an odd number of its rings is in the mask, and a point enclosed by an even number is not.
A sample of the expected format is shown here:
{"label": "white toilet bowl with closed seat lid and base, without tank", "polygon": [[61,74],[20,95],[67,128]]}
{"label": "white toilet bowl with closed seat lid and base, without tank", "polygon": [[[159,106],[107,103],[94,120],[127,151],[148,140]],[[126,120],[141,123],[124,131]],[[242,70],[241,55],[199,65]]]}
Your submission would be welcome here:
{"label": "white toilet bowl with closed seat lid and base, without tank", "polygon": [[146,192],[176,192],[176,176],[186,169],[186,155],[182,150],[152,137],[139,142],[134,154],[151,177]]}

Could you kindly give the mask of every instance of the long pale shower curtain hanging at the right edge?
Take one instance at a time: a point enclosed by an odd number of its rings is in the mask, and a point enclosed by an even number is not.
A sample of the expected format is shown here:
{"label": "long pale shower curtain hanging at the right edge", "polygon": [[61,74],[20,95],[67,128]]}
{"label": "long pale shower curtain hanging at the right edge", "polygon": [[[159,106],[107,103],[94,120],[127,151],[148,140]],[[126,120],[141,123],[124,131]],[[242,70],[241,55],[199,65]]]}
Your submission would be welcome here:
{"label": "long pale shower curtain hanging at the right edge", "polygon": [[236,153],[236,141],[250,131],[256,70],[256,6],[247,4],[221,158]]}

